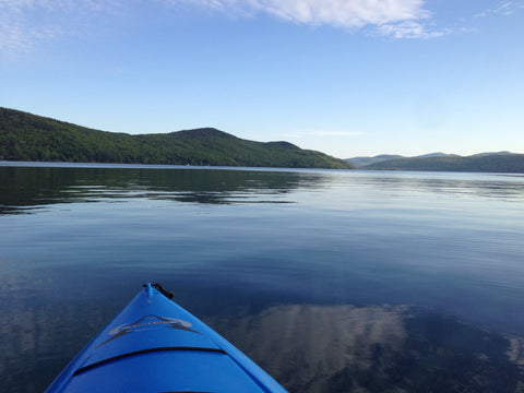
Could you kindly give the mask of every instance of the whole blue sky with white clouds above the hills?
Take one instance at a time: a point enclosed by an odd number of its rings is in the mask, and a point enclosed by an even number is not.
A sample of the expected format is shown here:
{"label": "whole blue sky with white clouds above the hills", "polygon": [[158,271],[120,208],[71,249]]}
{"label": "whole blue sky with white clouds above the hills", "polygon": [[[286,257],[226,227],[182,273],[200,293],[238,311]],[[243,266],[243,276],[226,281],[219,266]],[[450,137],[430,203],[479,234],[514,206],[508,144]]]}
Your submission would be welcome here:
{"label": "whole blue sky with white clouds above the hills", "polygon": [[524,0],[0,0],[0,106],[341,158],[524,153]]}

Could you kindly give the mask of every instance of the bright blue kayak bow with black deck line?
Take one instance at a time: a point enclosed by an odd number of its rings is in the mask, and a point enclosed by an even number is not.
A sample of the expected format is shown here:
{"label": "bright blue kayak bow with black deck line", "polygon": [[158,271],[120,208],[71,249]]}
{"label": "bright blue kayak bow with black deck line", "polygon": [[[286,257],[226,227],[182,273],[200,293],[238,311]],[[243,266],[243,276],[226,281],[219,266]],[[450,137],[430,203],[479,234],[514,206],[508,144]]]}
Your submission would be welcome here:
{"label": "bright blue kayak bow with black deck line", "polygon": [[146,284],[48,388],[55,392],[286,392]]}

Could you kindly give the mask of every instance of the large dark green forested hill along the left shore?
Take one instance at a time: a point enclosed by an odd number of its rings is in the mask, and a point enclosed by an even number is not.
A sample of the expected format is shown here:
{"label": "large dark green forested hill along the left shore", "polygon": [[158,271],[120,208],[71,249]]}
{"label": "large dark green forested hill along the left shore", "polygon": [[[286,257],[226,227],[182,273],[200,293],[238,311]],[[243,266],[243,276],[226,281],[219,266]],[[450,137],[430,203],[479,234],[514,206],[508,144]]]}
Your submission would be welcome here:
{"label": "large dark green forested hill along the left shore", "polygon": [[205,128],[130,135],[0,108],[0,159],[349,169],[287,142],[253,142]]}

